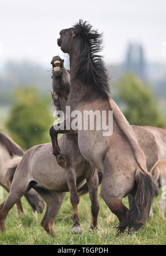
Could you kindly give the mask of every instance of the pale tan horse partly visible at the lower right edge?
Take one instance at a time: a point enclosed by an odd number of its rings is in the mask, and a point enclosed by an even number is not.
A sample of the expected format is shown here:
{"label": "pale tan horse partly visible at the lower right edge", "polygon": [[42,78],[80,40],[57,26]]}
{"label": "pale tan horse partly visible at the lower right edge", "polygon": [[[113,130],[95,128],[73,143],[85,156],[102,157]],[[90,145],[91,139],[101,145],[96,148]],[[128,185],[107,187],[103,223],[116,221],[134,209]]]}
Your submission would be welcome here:
{"label": "pale tan horse partly visible at the lower right edge", "polygon": [[[158,160],[157,163],[151,169],[152,180],[156,186],[157,196],[159,194],[160,187],[162,187],[163,194],[158,202],[160,213],[164,217],[165,200],[166,200],[166,159]],[[153,217],[153,209],[151,207],[150,216]]]}

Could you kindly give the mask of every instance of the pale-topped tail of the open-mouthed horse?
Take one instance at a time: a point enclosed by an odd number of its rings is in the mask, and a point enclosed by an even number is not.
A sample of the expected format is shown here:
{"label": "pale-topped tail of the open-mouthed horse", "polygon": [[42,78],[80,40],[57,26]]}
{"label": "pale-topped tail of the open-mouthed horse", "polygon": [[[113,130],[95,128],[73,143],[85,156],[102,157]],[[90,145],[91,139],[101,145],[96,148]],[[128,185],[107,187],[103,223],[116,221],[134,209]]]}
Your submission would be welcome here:
{"label": "pale-topped tail of the open-mouthed horse", "polygon": [[12,183],[15,170],[16,170],[18,164],[20,163],[20,161],[22,160],[22,158],[23,157],[20,157],[19,155],[14,155],[13,158],[8,160],[8,162],[6,164],[6,169],[7,169],[6,182],[7,182],[7,184]]}

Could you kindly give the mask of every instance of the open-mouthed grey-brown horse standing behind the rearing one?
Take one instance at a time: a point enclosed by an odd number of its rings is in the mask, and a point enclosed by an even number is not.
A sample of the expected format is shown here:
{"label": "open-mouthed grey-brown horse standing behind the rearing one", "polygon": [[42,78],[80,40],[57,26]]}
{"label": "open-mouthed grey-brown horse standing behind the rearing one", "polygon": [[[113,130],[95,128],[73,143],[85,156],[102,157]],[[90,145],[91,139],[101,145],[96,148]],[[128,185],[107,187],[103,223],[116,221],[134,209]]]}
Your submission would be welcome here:
{"label": "open-mouthed grey-brown horse standing behind the rearing one", "polygon": [[[59,59],[59,58],[58,58]],[[55,58],[56,60],[56,58]],[[63,76],[62,76],[63,74]],[[63,72],[53,71],[53,99],[56,107],[64,109],[70,83],[69,72],[63,68]],[[67,83],[66,83],[67,81]],[[97,215],[99,210],[97,188],[97,170],[82,157],[77,146],[76,139],[64,134],[59,139],[60,147],[71,155],[72,174],[76,187],[79,189],[85,184],[89,187],[91,199],[92,222],[91,228],[97,227]],[[69,147],[68,147],[69,146]],[[66,175],[71,175],[68,173]],[[69,183],[66,182],[65,170],[61,168],[52,154],[51,143],[36,145],[30,148],[20,160],[12,180],[11,190],[7,199],[0,205],[0,229],[5,230],[5,219],[13,204],[30,188],[34,188],[46,202],[46,212],[42,220],[42,226],[50,235],[54,234],[53,224],[59,212],[66,192],[69,191]],[[12,173],[8,172],[8,179],[12,179]],[[21,180],[21,182],[20,182]],[[72,195],[71,195],[72,201]],[[74,219],[75,220],[75,219]],[[72,233],[81,233],[80,225],[74,222]]]}

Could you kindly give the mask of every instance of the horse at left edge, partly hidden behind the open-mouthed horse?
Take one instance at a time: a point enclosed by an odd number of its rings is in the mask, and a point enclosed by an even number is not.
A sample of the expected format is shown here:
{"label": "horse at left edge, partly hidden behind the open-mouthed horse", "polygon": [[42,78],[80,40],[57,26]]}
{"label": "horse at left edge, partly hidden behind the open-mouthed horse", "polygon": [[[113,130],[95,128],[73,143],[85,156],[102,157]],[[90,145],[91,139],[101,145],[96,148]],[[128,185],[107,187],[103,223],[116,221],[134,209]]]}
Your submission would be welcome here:
{"label": "horse at left edge, partly hidden behind the open-mouthed horse", "polygon": [[[11,184],[6,180],[7,174],[7,162],[11,159],[11,164],[17,166],[20,159],[23,157],[23,150],[17,145],[11,138],[8,138],[7,135],[0,133],[0,184],[4,187],[7,192],[9,192]],[[10,165],[8,165],[8,168]],[[12,170],[11,170],[12,171]],[[14,175],[14,173],[12,174]],[[44,209],[43,199],[39,197],[37,192],[34,189],[30,189],[29,192],[25,194],[25,198],[28,203],[31,205],[33,211],[42,213]],[[16,202],[18,212],[23,213],[23,208],[20,200]]]}

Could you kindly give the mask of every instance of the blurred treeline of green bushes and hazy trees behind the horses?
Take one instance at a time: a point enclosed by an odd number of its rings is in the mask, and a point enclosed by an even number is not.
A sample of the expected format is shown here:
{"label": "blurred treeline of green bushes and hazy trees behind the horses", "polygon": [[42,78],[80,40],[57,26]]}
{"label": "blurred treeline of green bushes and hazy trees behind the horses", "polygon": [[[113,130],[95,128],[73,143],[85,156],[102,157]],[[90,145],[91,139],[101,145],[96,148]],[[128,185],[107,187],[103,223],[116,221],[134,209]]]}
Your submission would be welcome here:
{"label": "blurred treeline of green bushes and hazy trees behind the horses", "polygon": [[[68,56],[64,64],[69,67]],[[143,46],[130,43],[124,61],[107,64],[107,70],[111,97],[130,124],[166,127],[166,66],[147,62]],[[24,150],[50,142],[54,107],[49,90],[50,66],[28,61],[0,66],[0,130]]]}

